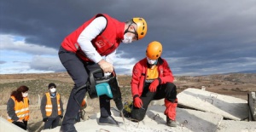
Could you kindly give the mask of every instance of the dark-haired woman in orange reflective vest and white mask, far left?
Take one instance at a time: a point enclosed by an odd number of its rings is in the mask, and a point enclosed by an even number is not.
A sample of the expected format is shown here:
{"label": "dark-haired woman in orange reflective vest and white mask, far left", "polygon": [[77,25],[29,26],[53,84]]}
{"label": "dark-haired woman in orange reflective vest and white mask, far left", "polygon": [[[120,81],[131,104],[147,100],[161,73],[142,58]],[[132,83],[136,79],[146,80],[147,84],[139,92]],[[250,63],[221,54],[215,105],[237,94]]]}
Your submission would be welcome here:
{"label": "dark-haired woman in orange reflective vest and white mask, far left", "polygon": [[7,102],[8,121],[26,130],[29,118],[28,88],[24,85],[13,91]]}

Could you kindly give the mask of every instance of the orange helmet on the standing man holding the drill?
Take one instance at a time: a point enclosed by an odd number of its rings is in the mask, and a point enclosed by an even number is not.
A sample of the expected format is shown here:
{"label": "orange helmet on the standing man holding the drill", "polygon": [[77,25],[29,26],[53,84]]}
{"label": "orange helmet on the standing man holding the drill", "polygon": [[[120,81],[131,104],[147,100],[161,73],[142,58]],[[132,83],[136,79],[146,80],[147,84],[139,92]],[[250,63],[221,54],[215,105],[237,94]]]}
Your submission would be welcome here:
{"label": "orange helmet on the standing man holding the drill", "polygon": [[135,17],[132,21],[137,25],[137,39],[142,39],[146,36],[148,26],[146,20],[141,17]]}

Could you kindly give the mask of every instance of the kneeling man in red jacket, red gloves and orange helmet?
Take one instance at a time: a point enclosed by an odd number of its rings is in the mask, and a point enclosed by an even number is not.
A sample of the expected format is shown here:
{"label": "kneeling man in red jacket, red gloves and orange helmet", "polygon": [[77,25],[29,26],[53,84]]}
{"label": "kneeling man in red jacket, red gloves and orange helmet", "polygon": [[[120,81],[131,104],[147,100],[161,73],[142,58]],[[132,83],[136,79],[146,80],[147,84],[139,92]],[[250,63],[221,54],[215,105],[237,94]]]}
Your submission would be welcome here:
{"label": "kneeling man in red jacket, red gloves and orange helmet", "polygon": [[166,124],[176,127],[177,88],[166,60],[160,57],[162,45],[159,42],[148,44],[146,58],[133,67],[131,93],[133,109],[131,118],[142,121],[151,100],[165,98]]}

